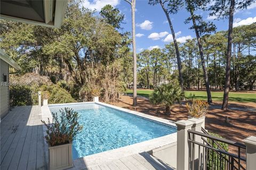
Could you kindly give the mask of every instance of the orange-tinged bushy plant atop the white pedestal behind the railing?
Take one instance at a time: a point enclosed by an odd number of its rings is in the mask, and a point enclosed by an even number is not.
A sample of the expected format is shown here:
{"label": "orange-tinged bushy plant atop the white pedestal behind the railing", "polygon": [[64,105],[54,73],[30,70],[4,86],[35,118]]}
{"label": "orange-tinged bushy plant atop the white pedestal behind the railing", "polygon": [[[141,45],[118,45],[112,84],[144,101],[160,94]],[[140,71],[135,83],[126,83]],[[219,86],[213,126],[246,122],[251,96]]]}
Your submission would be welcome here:
{"label": "orange-tinged bushy plant atop the white pedestal behind the railing", "polygon": [[191,117],[203,117],[207,114],[209,104],[203,100],[192,100],[191,103],[187,103],[188,115]]}

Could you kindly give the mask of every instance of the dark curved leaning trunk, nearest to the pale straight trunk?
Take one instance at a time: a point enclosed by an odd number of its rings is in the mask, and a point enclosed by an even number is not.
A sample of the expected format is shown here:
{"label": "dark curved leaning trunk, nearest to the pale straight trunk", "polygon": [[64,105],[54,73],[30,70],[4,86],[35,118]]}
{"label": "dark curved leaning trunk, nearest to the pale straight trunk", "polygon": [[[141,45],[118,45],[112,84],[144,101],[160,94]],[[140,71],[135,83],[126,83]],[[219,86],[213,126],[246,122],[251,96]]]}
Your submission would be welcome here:
{"label": "dark curved leaning trunk, nearest to the pale straight trunk", "polygon": [[180,87],[183,90],[184,86],[183,86],[182,68],[181,68],[181,60],[180,60],[180,52],[179,52],[178,43],[177,43],[176,36],[175,36],[174,30],[173,30],[173,27],[172,27],[172,22],[171,22],[171,19],[169,17],[169,13],[165,9],[162,0],[160,0],[159,3],[161,4],[162,9],[164,10],[164,13],[165,13],[166,18],[169,22],[169,26],[170,26],[170,29],[171,29],[171,32],[172,32],[173,43],[174,43],[174,47],[175,47],[175,53],[176,53],[176,56],[177,56],[177,64],[178,64],[178,70],[179,70],[179,82],[180,82]]}

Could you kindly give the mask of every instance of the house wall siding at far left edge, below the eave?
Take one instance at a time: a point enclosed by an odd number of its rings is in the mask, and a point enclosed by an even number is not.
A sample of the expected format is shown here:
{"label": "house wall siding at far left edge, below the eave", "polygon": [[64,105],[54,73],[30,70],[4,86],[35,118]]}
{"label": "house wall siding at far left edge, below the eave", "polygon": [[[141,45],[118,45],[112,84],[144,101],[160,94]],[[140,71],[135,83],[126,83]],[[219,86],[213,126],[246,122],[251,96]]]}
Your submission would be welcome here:
{"label": "house wall siding at far left edge, below the eave", "polygon": [[9,82],[9,64],[3,60],[0,60],[0,80],[1,80],[1,91],[0,91],[0,116],[1,119],[8,113],[9,111],[9,87],[3,86],[2,82],[4,80],[4,76],[7,76],[7,82]]}

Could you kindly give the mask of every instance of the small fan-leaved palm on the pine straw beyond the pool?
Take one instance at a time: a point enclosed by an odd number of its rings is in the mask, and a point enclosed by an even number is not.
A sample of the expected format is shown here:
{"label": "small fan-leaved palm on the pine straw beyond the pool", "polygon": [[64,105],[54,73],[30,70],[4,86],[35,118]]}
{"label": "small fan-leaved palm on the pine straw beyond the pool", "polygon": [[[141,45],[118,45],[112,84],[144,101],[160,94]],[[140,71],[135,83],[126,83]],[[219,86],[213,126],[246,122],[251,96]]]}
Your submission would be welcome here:
{"label": "small fan-leaved palm on the pine straw beyond the pool", "polygon": [[174,102],[180,103],[181,100],[185,99],[185,93],[178,84],[162,84],[155,88],[149,99],[154,104],[165,106],[165,114],[169,116]]}

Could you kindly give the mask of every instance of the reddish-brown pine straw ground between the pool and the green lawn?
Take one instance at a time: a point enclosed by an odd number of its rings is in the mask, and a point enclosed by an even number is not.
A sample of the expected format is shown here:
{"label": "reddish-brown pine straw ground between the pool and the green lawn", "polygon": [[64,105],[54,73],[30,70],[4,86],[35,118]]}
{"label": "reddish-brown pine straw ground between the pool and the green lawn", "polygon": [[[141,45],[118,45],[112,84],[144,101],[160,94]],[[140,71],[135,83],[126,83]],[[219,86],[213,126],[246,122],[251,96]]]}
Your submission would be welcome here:
{"label": "reddish-brown pine straw ground between the pool and the green lawn", "polygon": [[[131,96],[121,96],[118,102],[110,103],[118,107],[134,110],[132,107]],[[214,105],[220,105],[221,102],[213,102]],[[256,109],[255,102],[238,103],[229,102],[229,106],[236,108],[254,108]],[[149,102],[147,98],[138,97],[138,106],[136,111],[144,114],[169,119],[174,122],[182,119],[188,119],[188,110],[183,104],[179,107],[179,104],[175,104],[172,108],[171,115],[166,116],[164,114],[165,108],[160,106],[154,106]],[[225,116],[229,117],[230,123],[225,123]],[[256,112],[254,111],[238,111],[228,110],[223,111],[221,109],[214,109],[210,106],[209,113],[205,118],[205,128],[209,132],[217,133],[226,139],[242,142],[247,136],[256,135]],[[235,152],[235,148],[230,147],[231,152]]]}

